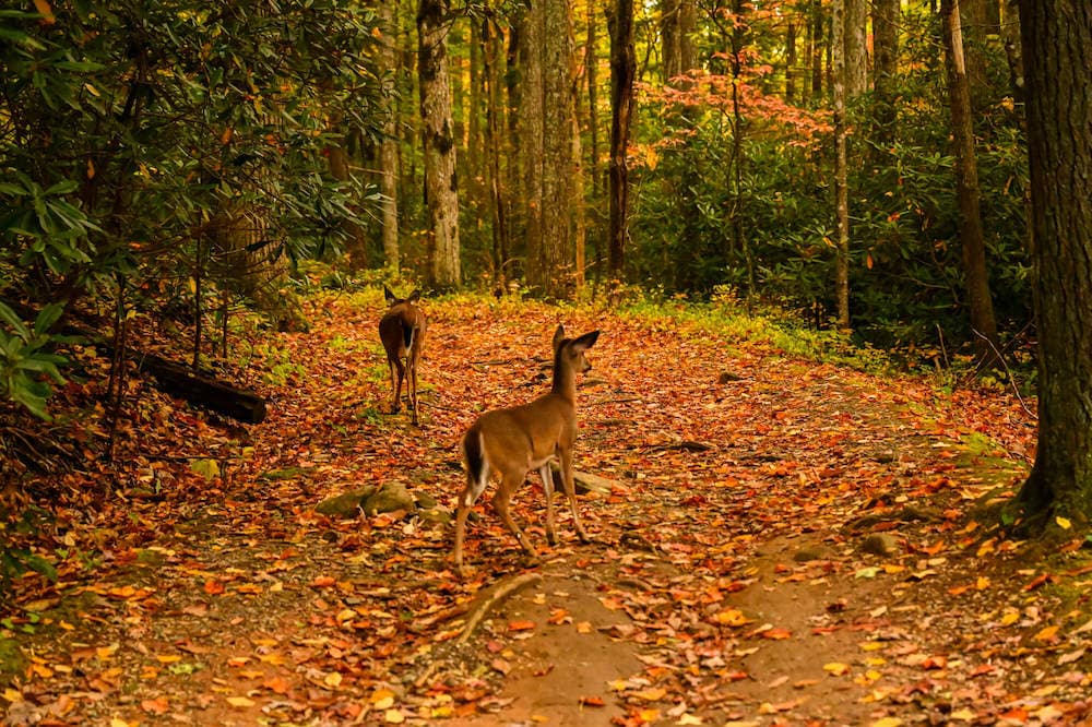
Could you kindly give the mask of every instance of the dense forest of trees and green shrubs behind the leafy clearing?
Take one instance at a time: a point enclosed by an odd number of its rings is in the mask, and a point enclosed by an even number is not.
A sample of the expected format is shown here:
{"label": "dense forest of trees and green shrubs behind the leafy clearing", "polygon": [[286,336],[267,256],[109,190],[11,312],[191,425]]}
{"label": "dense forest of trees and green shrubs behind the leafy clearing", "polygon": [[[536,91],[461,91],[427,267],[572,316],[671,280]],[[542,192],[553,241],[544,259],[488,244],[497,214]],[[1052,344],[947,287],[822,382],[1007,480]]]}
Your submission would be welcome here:
{"label": "dense forest of trees and green shrubs behind the leafy clearing", "polygon": [[[293,272],[322,261],[437,290],[743,299],[938,359],[1019,343],[1018,23],[961,4],[954,28],[935,0],[4,10],[3,298],[185,311],[205,336],[257,303],[285,327]],[[963,245],[961,193],[981,221]],[[17,318],[0,335],[49,370]],[[43,410],[21,381],[8,393]]]}

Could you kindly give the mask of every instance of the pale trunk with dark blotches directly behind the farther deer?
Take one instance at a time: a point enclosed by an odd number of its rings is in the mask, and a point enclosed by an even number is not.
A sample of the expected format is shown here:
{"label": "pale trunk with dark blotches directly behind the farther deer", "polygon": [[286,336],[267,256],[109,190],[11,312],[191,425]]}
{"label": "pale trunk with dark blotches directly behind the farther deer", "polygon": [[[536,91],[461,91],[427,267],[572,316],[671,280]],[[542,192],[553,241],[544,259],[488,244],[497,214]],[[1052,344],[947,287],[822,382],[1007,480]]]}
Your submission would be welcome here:
{"label": "pale trunk with dark blotches directly behind the farther deer", "polygon": [[429,284],[460,284],[459,191],[455,140],[452,134],[451,87],[448,83],[449,0],[420,0],[417,5],[417,74],[425,153],[425,199],[428,208]]}

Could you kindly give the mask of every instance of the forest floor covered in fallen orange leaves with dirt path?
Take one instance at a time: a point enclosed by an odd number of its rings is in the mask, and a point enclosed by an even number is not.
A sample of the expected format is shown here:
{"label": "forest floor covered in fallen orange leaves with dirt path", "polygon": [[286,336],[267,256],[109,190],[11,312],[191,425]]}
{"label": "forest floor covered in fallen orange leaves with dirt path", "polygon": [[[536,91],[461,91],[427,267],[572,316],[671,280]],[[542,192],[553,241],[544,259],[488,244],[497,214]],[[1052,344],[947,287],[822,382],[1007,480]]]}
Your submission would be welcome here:
{"label": "forest floor covered in fallen orange leaves with dirt path", "polygon": [[[419,427],[387,414],[378,295],[314,297],[311,332],[284,334],[281,354],[252,346],[261,425],[133,382],[121,464],[88,446],[50,485],[66,558],[57,583],[19,580],[0,615],[22,654],[0,724],[1092,718],[1084,534],[1044,555],[997,526],[1033,458],[1023,403],[795,359],[695,321],[424,308]],[[560,544],[546,545],[535,476],[514,511],[539,562],[486,504],[456,577],[443,513],[460,436],[484,408],[547,389],[559,322],[602,331],[578,393],[577,468],[606,482],[580,498],[594,541],[561,506]],[[96,415],[64,426],[102,449]],[[436,509],[314,511],[395,482]]]}

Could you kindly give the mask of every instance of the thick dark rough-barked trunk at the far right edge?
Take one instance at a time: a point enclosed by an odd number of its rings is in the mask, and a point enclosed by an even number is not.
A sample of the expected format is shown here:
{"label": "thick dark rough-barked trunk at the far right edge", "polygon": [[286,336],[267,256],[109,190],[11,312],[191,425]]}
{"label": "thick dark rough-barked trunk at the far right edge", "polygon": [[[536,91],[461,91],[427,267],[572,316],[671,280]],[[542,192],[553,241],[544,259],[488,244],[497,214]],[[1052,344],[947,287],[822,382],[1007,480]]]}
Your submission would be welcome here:
{"label": "thick dark rough-barked trunk at the far right edge", "polygon": [[1092,5],[1021,0],[1038,334],[1038,446],[1019,500],[1092,522]]}

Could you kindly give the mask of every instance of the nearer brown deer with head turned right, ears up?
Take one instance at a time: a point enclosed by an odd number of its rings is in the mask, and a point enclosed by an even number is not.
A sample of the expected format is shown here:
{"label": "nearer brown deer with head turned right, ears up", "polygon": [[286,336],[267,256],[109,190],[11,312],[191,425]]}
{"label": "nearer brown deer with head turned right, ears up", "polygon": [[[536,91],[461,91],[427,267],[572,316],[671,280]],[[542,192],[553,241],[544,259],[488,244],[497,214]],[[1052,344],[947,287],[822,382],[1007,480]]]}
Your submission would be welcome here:
{"label": "nearer brown deer with head turned right, ears up", "polygon": [[577,440],[577,373],[592,368],[584,358],[584,351],[595,345],[598,337],[600,332],[592,331],[577,338],[566,338],[565,327],[557,326],[554,333],[554,383],[549,393],[530,404],[486,412],[471,425],[463,437],[466,485],[459,494],[453,555],[455,569],[460,573],[463,570],[466,516],[489,484],[492,473],[500,476],[492,506],[524,552],[533,558],[535,550],[512,520],[508,511],[509,501],[527,474],[537,469],[546,491],[546,538],[554,545],[557,535],[554,531],[554,479],[550,463],[558,462],[561,467],[561,485],[572,509],[572,524],[580,541],[589,541],[577,512],[577,493],[572,482],[572,445]]}

